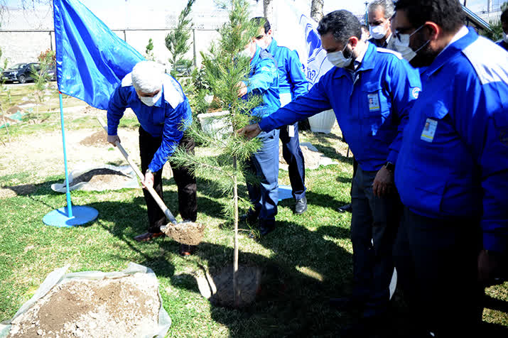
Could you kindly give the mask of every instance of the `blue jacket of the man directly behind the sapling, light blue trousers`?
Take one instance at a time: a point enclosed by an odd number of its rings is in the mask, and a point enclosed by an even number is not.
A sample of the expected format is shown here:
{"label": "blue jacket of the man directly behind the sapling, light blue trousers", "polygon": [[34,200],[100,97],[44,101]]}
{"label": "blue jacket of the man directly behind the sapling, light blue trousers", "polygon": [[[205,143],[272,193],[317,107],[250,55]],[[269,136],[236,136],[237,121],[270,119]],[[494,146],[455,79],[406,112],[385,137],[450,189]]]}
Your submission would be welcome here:
{"label": "blue jacket of the man directly behind the sapling, light blue trousers", "polygon": [[252,109],[252,116],[269,116],[281,107],[279,101],[279,71],[274,57],[256,45],[256,53],[251,60],[251,72],[247,85],[247,94],[242,99],[249,99],[249,94],[259,94],[263,103]]}

